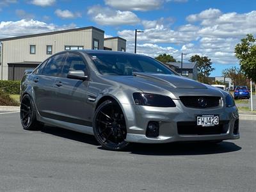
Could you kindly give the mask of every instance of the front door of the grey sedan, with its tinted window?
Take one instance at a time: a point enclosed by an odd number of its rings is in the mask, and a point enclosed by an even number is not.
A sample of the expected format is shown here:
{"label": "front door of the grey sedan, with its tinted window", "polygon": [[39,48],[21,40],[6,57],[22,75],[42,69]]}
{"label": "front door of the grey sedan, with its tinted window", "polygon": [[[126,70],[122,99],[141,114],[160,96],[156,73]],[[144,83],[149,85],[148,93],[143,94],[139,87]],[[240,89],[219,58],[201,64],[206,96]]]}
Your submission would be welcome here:
{"label": "front door of the grey sedan, with its tinted window", "polygon": [[76,52],[68,53],[61,77],[57,77],[54,83],[58,97],[57,112],[60,115],[56,118],[74,124],[92,126],[93,107],[92,102],[88,100],[89,81],[68,79],[67,74],[70,70],[83,70],[84,75],[90,79],[83,56]]}

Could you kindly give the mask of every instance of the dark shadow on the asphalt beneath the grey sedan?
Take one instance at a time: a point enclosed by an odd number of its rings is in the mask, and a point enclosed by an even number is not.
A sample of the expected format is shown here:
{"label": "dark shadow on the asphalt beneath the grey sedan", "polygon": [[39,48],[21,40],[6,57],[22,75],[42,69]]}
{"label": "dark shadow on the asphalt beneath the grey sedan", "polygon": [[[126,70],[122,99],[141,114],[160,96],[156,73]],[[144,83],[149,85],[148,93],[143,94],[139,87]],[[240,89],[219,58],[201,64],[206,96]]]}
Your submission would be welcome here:
{"label": "dark shadow on the asphalt beneath the grey sedan", "polygon": [[[52,134],[54,136],[67,138],[68,140],[95,145],[98,149],[105,150],[99,145],[99,143],[97,143],[94,136],[92,135],[50,126],[45,126],[40,131],[47,134]],[[231,141],[222,141],[218,144],[203,142],[164,144],[131,143],[131,145],[125,149],[124,152],[145,156],[195,156],[204,154],[221,154],[227,152],[235,152],[237,150],[241,150],[241,147]]]}

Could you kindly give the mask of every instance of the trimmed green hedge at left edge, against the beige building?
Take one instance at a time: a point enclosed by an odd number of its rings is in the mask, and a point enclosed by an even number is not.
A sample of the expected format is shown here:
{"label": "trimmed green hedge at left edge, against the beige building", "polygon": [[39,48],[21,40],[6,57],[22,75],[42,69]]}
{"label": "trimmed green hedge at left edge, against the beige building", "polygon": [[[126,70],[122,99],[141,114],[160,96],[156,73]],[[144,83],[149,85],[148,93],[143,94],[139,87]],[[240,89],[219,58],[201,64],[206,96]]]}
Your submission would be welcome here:
{"label": "trimmed green hedge at left edge, against the beige building", "polygon": [[0,80],[0,90],[9,94],[19,94],[20,93],[20,81],[1,81]]}

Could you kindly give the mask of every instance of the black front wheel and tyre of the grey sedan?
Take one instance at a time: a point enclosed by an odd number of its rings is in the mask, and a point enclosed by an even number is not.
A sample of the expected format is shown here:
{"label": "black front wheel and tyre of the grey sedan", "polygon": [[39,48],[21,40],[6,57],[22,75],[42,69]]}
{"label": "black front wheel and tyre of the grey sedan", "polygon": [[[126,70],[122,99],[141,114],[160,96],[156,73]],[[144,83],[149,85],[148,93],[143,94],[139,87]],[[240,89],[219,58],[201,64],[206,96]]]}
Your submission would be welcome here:
{"label": "black front wheel and tyre of the grey sedan", "polygon": [[122,109],[117,102],[106,100],[96,109],[93,133],[98,143],[107,150],[124,150],[127,129]]}

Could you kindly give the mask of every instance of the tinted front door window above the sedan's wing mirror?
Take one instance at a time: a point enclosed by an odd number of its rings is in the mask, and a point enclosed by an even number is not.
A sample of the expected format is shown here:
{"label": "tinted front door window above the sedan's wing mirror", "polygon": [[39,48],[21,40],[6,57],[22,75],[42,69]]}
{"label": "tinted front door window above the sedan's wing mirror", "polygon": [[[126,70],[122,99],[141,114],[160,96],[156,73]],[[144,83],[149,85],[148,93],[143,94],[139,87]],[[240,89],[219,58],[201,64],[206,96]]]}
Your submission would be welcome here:
{"label": "tinted front door window above the sedan's wing mirror", "polygon": [[79,54],[68,54],[62,69],[61,76],[66,77],[70,70],[83,70],[84,74],[87,74],[86,64],[84,63],[83,58]]}

